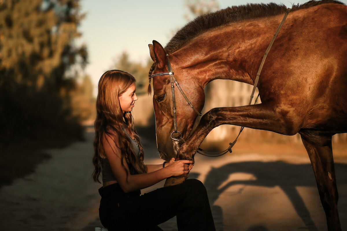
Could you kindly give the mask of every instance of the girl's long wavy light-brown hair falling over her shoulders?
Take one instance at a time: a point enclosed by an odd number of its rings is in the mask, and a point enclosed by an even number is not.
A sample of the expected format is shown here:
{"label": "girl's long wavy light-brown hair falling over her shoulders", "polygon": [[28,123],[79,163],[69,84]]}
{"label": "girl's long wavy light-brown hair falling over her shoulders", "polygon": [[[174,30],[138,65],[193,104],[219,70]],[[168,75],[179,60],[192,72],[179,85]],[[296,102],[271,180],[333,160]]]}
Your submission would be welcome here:
{"label": "girl's long wavy light-brown hair falling over her shoulders", "polygon": [[[130,174],[141,174],[147,172],[147,167],[143,163],[143,146],[139,142],[139,137],[133,125],[133,117],[130,112],[123,113],[119,96],[121,96],[133,83],[135,77],[125,71],[106,71],[100,78],[98,84],[98,97],[96,98],[96,119],[94,123],[94,156],[93,156],[93,179],[100,182],[99,177],[102,171],[102,159],[105,157],[102,141],[103,137],[110,136],[114,144],[121,150],[121,163],[124,167],[124,160],[128,165]],[[139,145],[140,157],[132,149],[129,137],[123,130],[125,124]],[[117,134],[117,135],[115,135]],[[127,172],[128,176],[128,172]]]}

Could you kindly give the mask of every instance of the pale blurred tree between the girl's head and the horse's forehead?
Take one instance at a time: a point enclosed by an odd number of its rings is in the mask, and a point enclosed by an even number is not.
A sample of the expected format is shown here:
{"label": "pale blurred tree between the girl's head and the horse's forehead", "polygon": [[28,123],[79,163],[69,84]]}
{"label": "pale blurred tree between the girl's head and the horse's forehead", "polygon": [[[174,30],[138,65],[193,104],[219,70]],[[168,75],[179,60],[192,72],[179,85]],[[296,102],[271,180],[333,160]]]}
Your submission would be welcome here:
{"label": "pale blurred tree between the girl's head and the horse's forehead", "polygon": [[147,94],[148,71],[152,66],[152,59],[148,59],[146,64],[129,60],[127,52],[121,53],[115,60],[111,69],[118,69],[133,74],[136,78],[136,94]]}

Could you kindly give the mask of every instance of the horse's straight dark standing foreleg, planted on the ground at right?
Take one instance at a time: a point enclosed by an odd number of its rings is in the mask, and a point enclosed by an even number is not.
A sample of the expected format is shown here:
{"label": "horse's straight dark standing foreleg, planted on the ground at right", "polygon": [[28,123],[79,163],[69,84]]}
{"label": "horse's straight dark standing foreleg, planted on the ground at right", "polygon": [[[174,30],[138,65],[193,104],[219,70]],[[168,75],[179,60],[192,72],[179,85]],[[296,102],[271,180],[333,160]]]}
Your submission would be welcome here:
{"label": "horse's straight dark standing foreleg, planted on the ground at right", "polygon": [[341,230],[331,136],[314,134],[308,130],[301,130],[299,133],[311,160],[319,196],[327,217],[328,230]]}

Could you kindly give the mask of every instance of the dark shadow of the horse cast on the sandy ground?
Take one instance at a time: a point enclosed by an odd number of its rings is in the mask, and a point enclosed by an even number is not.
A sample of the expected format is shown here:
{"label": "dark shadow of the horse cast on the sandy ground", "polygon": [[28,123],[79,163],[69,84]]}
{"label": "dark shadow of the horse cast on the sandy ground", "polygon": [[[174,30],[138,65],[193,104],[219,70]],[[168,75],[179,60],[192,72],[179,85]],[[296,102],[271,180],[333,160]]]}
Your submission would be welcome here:
{"label": "dark shadow of the horse cast on the sandy ground", "polygon": [[[234,185],[245,186],[262,186],[262,187],[280,187],[289,198],[291,204],[304,222],[306,229],[317,231],[318,228],[314,224],[310,212],[306,207],[302,197],[296,187],[314,187],[316,181],[312,171],[311,164],[293,164],[283,161],[261,162],[261,161],[245,161],[228,163],[219,168],[213,168],[206,175],[204,185],[208,190],[210,204],[213,205],[219,196],[229,187]],[[347,183],[347,164],[336,163],[337,183]],[[193,173],[193,172],[192,172]],[[231,174],[244,173],[252,175],[245,180],[229,180]],[[236,194],[242,193],[244,187],[240,188]],[[318,194],[318,192],[317,192]],[[320,203],[319,201],[317,203]],[[219,219],[222,222],[222,210],[213,206],[214,211],[221,213]],[[323,212],[323,208],[322,208]],[[219,216],[219,214],[218,214]],[[341,217],[342,218],[342,217]],[[344,220],[343,218],[341,220]],[[218,221],[217,221],[218,222]],[[223,224],[219,224],[223,226]],[[216,224],[217,226],[217,224]]]}

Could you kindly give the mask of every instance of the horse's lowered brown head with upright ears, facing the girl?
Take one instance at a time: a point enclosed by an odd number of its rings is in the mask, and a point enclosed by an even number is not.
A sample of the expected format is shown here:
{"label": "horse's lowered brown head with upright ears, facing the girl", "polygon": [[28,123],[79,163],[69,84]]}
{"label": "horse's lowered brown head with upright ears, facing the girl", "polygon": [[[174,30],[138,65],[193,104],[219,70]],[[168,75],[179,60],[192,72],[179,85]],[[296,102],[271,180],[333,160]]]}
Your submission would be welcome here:
{"label": "horse's lowered brown head with upright ears, facing the girl", "polygon": [[[205,92],[198,78],[194,78],[194,73],[190,68],[184,68],[184,59],[176,57],[174,54],[167,56],[166,51],[160,43],[153,41],[153,45],[149,44],[152,60],[156,63],[153,74],[169,72],[168,59],[170,59],[174,77],[179,83],[186,97],[191,101],[192,105],[198,112],[201,112],[204,101]],[[170,76],[158,75],[152,78],[153,82],[153,107],[156,123],[156,142],[160,157],[166,161],[172,157],[176,157],[180,147],[180,142],[171,139],[180,135],[174,133],[174,112],[172,109],[172,90]],[[176,120],[177,131],[182,134],[182,138],[186,139],[192,130],[197,113],[188,105],[186,99],[175,85],[175,103],[176,103]]]}

